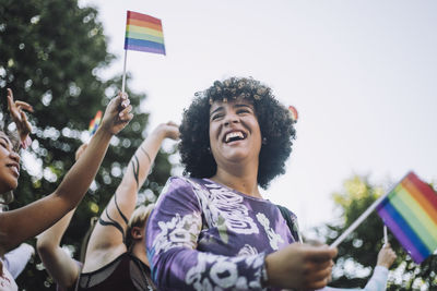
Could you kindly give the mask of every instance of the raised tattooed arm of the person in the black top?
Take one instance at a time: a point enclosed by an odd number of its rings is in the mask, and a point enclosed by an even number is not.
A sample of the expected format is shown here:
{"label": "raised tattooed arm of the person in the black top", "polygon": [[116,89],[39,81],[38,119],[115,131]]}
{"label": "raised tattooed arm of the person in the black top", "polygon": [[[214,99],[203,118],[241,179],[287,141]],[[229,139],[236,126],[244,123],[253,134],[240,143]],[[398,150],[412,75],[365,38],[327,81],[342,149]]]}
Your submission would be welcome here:
{"label": "raised tattooed arm of the person in the black top", "polygon": [[132,156],[120,185],[91,234],[84,271],[95,270],[127,251],[123,239],[137,205],[138,191],[147,178],[162,142],[167,137],[179,137],[178,128],[173,122],[158,125]]}

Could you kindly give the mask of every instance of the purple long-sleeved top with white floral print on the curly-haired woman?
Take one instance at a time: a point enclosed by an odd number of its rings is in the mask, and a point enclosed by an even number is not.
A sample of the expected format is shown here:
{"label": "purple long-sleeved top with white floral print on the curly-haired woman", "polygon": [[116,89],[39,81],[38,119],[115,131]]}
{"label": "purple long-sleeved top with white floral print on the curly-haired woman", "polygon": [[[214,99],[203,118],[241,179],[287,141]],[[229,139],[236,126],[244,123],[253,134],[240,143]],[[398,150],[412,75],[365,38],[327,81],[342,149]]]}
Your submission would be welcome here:
{"label": "purple long-sleeved top with white floral print on the curly-haired woman", "polygon": [[276,290],[261,286],[264,256],[299,240],[290,215],[292,231],[269,201],[170,178],[147,222],[153,280],[160,290]]}

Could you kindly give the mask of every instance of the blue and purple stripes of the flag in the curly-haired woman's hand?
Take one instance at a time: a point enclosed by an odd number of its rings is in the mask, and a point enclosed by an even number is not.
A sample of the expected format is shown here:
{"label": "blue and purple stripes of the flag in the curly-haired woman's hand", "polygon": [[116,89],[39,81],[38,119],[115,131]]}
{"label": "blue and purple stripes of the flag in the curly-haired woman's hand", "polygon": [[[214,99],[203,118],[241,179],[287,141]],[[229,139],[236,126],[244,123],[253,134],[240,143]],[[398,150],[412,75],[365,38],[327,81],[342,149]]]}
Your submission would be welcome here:
{"label": "blue and purple stripes of the flag in the curly-haired woman's hand", "polygon": [[413,260],[421,264],[429,255],[429,252],[405,220],[388,201],[383,201],[377,211]]}

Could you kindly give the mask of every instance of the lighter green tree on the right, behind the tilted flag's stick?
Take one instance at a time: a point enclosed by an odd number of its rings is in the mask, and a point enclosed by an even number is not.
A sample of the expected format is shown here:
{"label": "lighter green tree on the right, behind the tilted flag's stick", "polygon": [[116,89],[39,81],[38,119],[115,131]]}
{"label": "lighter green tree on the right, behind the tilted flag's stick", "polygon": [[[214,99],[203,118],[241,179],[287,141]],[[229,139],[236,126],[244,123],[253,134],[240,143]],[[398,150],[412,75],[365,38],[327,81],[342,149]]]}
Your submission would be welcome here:
{"label": "lighter green tree on the right, behind the tilted flag's stick", "polygon": [[[333,194],[341,217],[339,222],[328,223],[317,229],[317,232],[324,235],[327,243],[331,244],[386,191],[387,186],[371,185],[367,177],[354,175],[347,179],[343,190]],[[382,227],[382,220],[374,211],[339,245],[330,286],[363,288],[366,284],[383,243]],[[398,258],[391,267],[388,290],[437,290],[437,255],[416,265],[391,233],[389,242]]]}

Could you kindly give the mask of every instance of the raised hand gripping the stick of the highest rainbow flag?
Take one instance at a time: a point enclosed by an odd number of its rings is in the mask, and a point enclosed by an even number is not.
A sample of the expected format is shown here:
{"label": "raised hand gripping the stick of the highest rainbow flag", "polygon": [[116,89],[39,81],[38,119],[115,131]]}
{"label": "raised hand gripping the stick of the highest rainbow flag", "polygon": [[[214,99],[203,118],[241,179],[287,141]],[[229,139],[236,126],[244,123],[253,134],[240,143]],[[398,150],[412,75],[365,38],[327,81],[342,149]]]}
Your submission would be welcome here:
{"label": "raised hand gripping the stick of the highest rainbow flag", "polygon": [[[117,134],[132,120],[132,106],[126,93],[119,93],[106,107],[99,130]],[[97,130],[98,131],[98,130]]]}

